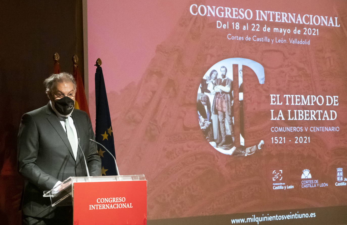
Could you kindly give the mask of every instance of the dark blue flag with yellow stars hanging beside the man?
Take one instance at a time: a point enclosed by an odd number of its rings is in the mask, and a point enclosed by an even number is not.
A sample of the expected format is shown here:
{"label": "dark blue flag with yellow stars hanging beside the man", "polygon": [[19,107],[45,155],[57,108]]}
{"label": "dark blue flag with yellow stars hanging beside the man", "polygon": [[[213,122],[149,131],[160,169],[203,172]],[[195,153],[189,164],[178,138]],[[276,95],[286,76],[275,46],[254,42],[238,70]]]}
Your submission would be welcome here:
{"label": "dark blue flag with yellow stars hanging beside the man", "polygon": [[[99,65],[96,65],[95,72],[95,105],[95,140],[104,145],[112,155],[116,157],[104,75],[102,74],[102,68]],[[116,172],[115,160],[110,156],[110,154],[105,152],[99,145],[98,153],[101,157],[101,174],[105,176],[118,175]]]}

